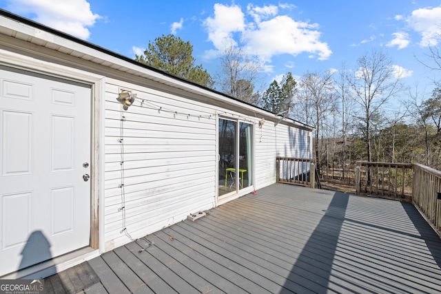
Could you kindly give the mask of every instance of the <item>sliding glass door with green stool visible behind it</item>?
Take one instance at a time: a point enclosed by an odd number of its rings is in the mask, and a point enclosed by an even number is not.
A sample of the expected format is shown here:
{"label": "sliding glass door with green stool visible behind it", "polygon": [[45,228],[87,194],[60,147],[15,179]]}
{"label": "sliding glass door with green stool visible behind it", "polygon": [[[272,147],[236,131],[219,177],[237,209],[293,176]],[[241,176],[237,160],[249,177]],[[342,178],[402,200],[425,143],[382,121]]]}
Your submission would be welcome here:
{"label": "sliding glass door with green stool visible behind it", "polygon": [[253,125],[219,118],[219,196],[253,185]]}

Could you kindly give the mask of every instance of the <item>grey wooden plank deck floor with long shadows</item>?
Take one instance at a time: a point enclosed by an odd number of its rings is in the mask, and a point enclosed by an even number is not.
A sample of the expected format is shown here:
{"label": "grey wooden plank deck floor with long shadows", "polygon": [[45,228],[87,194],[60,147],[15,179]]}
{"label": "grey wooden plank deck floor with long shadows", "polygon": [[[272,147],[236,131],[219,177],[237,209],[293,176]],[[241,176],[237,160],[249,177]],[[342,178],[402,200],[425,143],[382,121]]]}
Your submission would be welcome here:
{"label": "grey wooden plank deck floor with long shadows", "polygon": [[276,184],[104,253],[83,271],[48,277],[45,286],[47,293],[52,285],[56,293],[61,286],[70,293],[440,293],[440,266],[441,240],[411,204]]}

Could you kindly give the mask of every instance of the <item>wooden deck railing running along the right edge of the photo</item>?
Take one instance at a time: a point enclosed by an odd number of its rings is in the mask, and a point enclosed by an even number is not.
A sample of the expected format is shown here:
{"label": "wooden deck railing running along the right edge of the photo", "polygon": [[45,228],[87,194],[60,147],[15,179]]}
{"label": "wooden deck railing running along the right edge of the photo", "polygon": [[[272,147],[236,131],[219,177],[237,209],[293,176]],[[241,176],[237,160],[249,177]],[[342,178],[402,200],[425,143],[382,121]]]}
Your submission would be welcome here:
{"label": "wooden deck railing running along the right edge of the photo", "polygon": [[424,165],[413,165],[412,202],[436,231],[441,231],[441,171]]}

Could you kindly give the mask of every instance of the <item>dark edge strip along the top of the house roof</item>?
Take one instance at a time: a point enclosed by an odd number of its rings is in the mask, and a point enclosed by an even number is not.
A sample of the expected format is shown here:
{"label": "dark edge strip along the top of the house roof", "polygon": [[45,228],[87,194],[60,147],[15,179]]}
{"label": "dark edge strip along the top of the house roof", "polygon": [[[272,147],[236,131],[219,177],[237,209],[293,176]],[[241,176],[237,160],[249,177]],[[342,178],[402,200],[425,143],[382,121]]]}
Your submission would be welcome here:
{"label": "dark edge strip along the top of the house roof", "polygon": [[[51,34],[54,34],[54,35],[62,37],[63,39],[68,39],[69,41],[72,41],[72,42],[75,42],[75,43],[79,43],[79,44],[84,45],[84,46],[86,46],[88,48],[92,48],[92,49],[97,50],[99,52],[102,52],[102,53],[105,53],[107,55],[113,56],[113,57],[115,57],[117,59],[121,59],[121,60],[126,61],[128,63],[132,63],[133,65],[136,65],[136,66],[139,66],[139,67],[144,67],[145,69],[152,70],[153,72],[157,72],[158,74],[163,74],[164,76],[167,76],[169,78],[174,78],[174,79],[176,79],[178,81],[183,81],[183,82],[188,83],[190,85],[193,85],[195,87],[199,87],[199,88],[201,88],[203,90],[207,90],[207,91],[212,92],[214,94],[218,94],[218,95],[224,96],[225,98],[229,98],[229,99],[232,99],[234,101],[238,101],[240,103],[244,103],[246,105],[249,105],[249,106],[252,106],[252,107],[256,107],[258,109],[264,110],[265,112],[268,112],[267,109],[263,109],[262,107],[258,107],[256,105],[251,104],[251,103],[247,103],[247,102],[242,101],[242,100],[240,100],[238,98],[234,98],[233,96],[229,96],[229,95],[227,95],[225,93],[218,92],[216,90],[213,90],[212,88],[204,87],[203,85],[199,85],[198,83],[194,83],[192,81],[187,81],[185,78],[180,78],[178,76],[174,76],[174,75],[169,74],[167,72],[164,72],[162,70],[158,70],[157,68],[151,67],[151,66],[146,65],[144,63],[140,63],[139,61],[136,61],[134,59],[130,59],[129,57],[124,56],[122,54],[119,54],[119,53],[113,52],[111,50],[105,49],[105,48],[103,48],[103,47],[101,47],[99,45],[96,45],[94,43],[90,43],[88,41],[84,41],[83,39],[79,39],[76,36],[72,36],[71,34],[66,34],[65,32],[61,32],[59,30],[55,30],[54,28],[50,28],[50,27],[48,27],[46,25],[43,25],[41,23],[37,23],[36,21],[32,21],[31,19],[27,19],[25,17],[21,17],[21,16],[19,16],[17,14],[14,14],[12,12],[7,11],[7,10],[3,10],[3,9],[0,8],[0,15],[2,15],[3,17],[8,17],[9,19],[12,19],[14,21],[18,21],[20,23],[25,23],[26,25],[30,25],[30,26],[32,26],[34,28],[38,28],[40,30],[44,30],[46,32],[50,32]],[[311,127],[310,125],[306,125],[305,123],[301,123],[298,120],[294,120],[292,118],[288,118],[288,119],[292,120],[292,121],[294,121],[296,123],[299,123],[300,125],[303,125],[305,127],[309,127],[311,129],[314,129],[314,127]]]}

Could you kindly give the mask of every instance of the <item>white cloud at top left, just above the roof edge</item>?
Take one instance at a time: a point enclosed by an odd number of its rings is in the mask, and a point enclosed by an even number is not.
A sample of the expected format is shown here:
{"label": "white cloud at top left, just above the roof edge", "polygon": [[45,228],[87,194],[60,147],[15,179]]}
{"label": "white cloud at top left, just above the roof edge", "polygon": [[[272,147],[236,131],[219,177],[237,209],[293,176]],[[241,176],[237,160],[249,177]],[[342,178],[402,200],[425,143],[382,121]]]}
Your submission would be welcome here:
{"label": "white cloud at top left, just above the roof edge", "polygon": [[35,15],[32,20],[81,39],[88,39],[88,27],[102,18],[92,13],[90,3],[85,0],[13,0],[8,10],[17,14]]}

